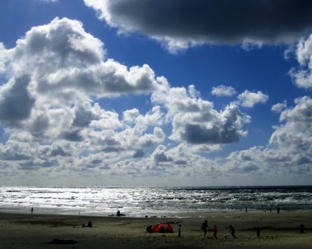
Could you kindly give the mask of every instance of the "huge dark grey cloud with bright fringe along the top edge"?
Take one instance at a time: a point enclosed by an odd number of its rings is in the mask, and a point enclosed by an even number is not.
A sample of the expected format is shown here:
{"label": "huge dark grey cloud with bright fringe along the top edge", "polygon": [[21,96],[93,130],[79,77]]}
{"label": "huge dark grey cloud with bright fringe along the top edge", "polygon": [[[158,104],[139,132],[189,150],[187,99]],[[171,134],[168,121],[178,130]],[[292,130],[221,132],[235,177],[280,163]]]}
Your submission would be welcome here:
{"label": "huge dark grey cloud with bright fringe along the top edge", "polygon": [[311,1],[95,1],[85,4],[119,33],[141,33],[171,51],[198,44],[291,43],[312,28]]}

